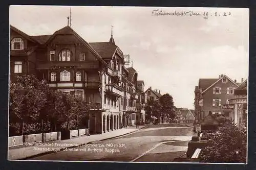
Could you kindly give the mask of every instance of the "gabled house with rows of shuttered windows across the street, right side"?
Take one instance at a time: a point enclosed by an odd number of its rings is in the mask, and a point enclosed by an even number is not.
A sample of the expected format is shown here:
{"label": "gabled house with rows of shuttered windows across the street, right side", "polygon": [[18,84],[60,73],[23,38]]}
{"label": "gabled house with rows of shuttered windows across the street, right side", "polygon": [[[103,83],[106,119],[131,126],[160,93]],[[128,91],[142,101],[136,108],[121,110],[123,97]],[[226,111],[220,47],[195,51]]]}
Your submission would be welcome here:
{"label": "gabled house with rows of shuttered windows across the street, right side", "polygon": [[195,87],[196,122],[200,123],[209,111],[217,116],[233,119],[232,109],[225,108],[225,105],[234,98],[234,90],[238,86],[236,81],[226,75],[220,75],[219,79],[199,79],[198,86]]}

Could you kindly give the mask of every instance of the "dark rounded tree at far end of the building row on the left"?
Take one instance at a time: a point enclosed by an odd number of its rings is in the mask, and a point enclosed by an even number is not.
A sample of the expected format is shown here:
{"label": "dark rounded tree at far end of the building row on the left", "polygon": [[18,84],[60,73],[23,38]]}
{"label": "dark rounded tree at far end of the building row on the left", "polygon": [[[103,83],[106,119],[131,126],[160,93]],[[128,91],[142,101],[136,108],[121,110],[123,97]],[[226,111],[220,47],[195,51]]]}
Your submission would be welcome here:
{"label": "dark rounded tree at far end of the building row on the left", "polygon": [[174,112],[174,102],[173,102],[172,95],[169,95],[168,93],[166,93],[160,97],[159,101],[162,106],[161,113],[167,114],[169,115],[169,118],[173,119],[175,117],[175,112]]}

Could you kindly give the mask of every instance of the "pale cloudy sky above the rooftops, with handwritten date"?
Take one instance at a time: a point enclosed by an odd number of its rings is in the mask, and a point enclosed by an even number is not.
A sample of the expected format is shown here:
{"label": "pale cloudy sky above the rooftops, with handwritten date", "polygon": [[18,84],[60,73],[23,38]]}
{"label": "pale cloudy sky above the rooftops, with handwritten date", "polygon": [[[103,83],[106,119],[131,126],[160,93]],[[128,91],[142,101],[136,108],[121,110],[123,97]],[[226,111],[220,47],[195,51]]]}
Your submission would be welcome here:
{"label": "pale cloudy sky above the rooftops, with handwritten date", "polygon": [[[68,16],[70,6],[10,6],[10,24],[30,36],[53,34]],[[248,77],[249,9],[72,6],[71,18],[87,42],[109,41],[113,26],[145,90],[169,93],[176,107],[194,108],[200,78]]]}

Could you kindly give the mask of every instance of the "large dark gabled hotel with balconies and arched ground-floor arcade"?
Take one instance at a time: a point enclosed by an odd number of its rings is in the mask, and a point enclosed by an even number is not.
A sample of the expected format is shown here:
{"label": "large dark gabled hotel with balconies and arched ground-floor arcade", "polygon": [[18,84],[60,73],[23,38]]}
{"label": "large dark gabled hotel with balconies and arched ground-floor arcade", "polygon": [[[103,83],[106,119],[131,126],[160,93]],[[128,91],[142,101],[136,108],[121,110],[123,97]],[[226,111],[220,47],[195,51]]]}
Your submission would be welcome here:
{"label": "large dark gabled hotel with balconies and arched ground-floor arcade", "polygon": [[134,126],[136,116],[141,117],[136,109],[138,73],[124,66],[112,33],[108,42],[88,43],[69,26],[39,36],[10,29],[11,82],[16,76],[34,74],[52,89],[86,100],[90,133]]}

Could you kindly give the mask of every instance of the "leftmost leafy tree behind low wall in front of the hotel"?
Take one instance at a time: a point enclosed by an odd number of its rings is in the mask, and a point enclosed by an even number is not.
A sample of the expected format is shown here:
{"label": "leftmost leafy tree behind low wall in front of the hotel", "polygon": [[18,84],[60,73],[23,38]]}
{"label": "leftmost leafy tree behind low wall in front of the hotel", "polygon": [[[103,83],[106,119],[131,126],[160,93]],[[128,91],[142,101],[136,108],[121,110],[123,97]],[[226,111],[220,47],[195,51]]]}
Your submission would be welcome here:
{"label": "leftmost leafy tree behind low wall in front of the hotel", "polygon": [[18,76],[10,84],[10,122],[19,122],[23,134],[24,123],[36,122],[40,110],[47,102],[46,81],[39,81],[34,75]]}

